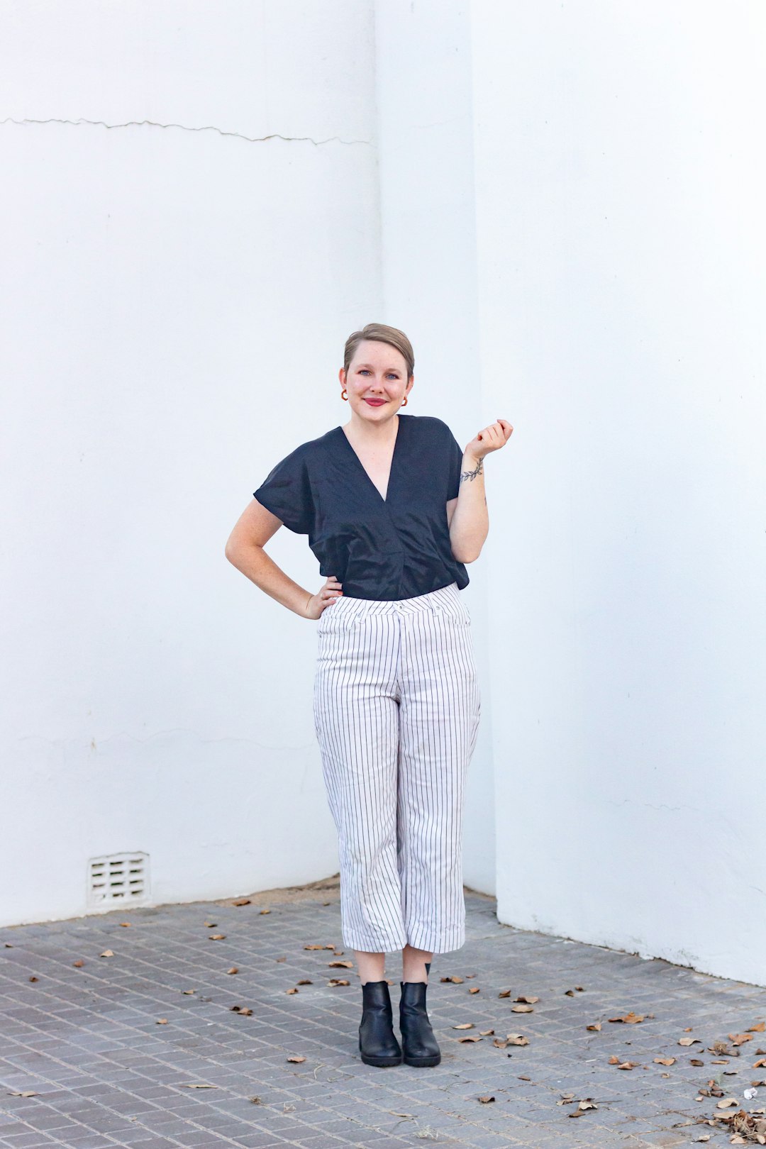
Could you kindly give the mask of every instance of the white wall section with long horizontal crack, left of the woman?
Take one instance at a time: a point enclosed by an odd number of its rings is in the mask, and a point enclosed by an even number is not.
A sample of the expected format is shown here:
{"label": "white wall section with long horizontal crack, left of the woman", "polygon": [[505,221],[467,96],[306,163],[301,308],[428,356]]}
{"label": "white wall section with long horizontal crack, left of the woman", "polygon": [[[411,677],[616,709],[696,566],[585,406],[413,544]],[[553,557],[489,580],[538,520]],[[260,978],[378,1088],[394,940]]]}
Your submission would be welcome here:
{"label": "white wall section with long horizontal crack, left of the woman", "polygon": [[372,8],[332,13],[3,6],[0,923],[121,850],[155,902],[338,869],[314,627],[224,558],[381,308]]}

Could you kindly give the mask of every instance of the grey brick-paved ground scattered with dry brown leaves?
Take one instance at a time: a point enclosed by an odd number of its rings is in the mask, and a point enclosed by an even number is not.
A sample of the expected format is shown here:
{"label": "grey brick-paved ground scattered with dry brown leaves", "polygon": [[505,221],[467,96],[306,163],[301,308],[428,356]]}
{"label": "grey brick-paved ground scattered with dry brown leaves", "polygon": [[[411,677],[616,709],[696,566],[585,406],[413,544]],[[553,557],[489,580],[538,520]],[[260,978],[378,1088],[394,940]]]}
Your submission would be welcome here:
{"label": "grey brick-paved ground scattered with dry brown leaves", "polygon": [[[766,1077],[752,1067],[766,1034],[724,1064],[707,1049],[766,1018],[766,988],[513,930],[497,923],[494,899],[467,889],[466,943],[435,955],[428,982],[441,1064],[364,1065],[358,976],[331,965],[353,961],[336,880],[323,888],[0,930],[0,1146],[667,1149],[704,1133],[729,1143],[726,1131],[689,1124],[715,1112],[714,1098],[695,1101],[709,1079],[742,1108],[766,1100],[761,1088],[743,1101]],[[463,981],[440,980],[452,976]],[[386,977],[396,1019],[397,955]],[[533,1012],[512,1012],[520,995],[540,998]],[[647,1017],[608,1020],[629,1010]],[[528,1046],[494,1044],[509,1033]],[[680,1047],[686,1035],[701,1044]],[[637,1067],[618,1070],[612,1055]],[[571,1119],[575,1105],[557,1104],[567,1092],[598,1108]]]}

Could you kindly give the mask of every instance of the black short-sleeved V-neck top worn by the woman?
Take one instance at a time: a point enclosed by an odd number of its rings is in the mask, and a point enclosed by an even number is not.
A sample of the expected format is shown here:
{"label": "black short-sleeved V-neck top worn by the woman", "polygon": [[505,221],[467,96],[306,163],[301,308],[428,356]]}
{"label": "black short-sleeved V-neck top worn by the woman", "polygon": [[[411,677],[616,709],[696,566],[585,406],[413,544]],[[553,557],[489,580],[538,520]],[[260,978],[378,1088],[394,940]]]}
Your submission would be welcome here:
{"label": "black short-sleeved V-neck top worn by the woman", "polygon": [[385,499],[340,426],[301,444],[253,492],[291,531],[308,534],[319,572],[350,599],[411,599],[469,584],[446,506],[459,492],[463,448],[441,419],[397,418]]}

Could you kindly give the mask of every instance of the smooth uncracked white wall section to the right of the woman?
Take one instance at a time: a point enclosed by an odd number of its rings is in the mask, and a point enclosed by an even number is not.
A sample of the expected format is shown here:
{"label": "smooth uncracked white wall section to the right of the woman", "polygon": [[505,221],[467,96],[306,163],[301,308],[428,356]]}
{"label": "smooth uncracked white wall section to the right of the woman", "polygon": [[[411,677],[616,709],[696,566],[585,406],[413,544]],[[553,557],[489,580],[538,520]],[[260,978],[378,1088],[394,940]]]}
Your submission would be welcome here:
{"label": "smooth uncracked white wall section to the right of the woman", "polygon": [[764,8],[471,10],[498,913],[763,984]]}

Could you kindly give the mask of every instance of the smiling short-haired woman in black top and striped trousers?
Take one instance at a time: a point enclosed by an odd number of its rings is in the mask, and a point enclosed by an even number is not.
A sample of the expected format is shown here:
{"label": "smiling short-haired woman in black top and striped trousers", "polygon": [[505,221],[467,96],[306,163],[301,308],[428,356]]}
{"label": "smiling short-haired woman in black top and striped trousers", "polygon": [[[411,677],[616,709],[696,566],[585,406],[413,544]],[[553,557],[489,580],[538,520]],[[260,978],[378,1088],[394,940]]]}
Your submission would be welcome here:
{"label": "smiling short-haired woman in black top and striped trousers", "polygon": [[[400,415],[413,368],[395,327],[349,336],[339,371],[349,421],[277,463],[226,543],[256,586],[318,619],[315,726],[369,1065],[441,1061],[426,986],[433,954],[465,941],[463,793],[480,715],[459,591],[488,532],[485,456],[513,430],[497,419],[463,450],[441,419]],[[316,594],[263,549],[283,524],[309,535],[325,576]],[[403,1055],[384,977],[396,949]]]}

